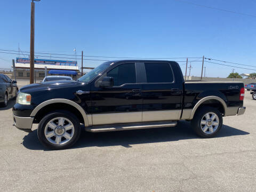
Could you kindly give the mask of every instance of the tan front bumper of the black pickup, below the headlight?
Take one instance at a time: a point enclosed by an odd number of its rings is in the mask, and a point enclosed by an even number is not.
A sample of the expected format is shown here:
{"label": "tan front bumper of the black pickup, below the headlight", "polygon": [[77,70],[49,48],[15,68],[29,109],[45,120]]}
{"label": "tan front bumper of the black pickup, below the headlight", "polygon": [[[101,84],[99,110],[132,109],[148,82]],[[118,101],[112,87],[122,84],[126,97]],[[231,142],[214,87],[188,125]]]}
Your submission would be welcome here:
{"label": "tan front bumper of the black pickup, below the headlight", "polygon": [[31,132],[34,117],[19,117],[13,115],[13,126],[19,130]]}

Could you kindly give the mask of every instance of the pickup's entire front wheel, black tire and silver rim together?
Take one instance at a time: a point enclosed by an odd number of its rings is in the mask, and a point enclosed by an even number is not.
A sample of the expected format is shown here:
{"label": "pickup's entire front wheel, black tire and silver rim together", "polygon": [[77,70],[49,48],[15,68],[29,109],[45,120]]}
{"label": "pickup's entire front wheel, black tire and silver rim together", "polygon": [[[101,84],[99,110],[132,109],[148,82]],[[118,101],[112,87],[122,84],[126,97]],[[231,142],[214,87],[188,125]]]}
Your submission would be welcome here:
{"label": "pickup's entire front wheel, black tire and silver rim together", "polygon": [[53,150],[73,146],[79,139],[80,134],[81,127],[78,118],[66,110],[53,111],[47,114],[41,120],[37,129],[39,141],[45,147]]}

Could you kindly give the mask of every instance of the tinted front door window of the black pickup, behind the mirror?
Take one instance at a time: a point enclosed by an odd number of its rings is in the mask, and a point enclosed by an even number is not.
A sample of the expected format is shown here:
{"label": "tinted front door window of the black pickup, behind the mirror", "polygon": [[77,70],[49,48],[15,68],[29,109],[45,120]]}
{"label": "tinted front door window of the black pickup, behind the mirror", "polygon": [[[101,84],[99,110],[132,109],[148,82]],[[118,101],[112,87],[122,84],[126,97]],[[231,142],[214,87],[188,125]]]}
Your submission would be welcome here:
{"label": "tinted front door window of the black pickup, behind the mirror", "polygon": [[125,63],[115,67],[107,73],[108,77],[114,78],[114,86],[125,83],[136,83],[135,63]]}

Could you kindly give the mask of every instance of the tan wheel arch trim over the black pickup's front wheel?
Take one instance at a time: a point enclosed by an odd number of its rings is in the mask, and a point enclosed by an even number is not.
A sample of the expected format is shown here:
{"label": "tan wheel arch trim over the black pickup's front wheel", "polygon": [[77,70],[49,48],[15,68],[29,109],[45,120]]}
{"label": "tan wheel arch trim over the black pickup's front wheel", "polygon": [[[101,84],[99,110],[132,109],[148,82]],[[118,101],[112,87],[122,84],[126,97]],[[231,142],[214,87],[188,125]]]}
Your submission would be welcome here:
{"label": "tan wheel arch trim over the black pickup's front wheel", "polygon": [[[82,120],[85,126],[89,126],[91,123],[85,113],[84,109],[79,106],[76,102],[68,100],[68,99],[50,99],[39,104],[30,114],[30,117],[42,118],[40,115],[42,113],[45,114],[47,110],[50,109],[64,109],[71,110],[71,112],[75,113],[78,116],[79,120]],[[39,116],[39,117],[38,117]]]}

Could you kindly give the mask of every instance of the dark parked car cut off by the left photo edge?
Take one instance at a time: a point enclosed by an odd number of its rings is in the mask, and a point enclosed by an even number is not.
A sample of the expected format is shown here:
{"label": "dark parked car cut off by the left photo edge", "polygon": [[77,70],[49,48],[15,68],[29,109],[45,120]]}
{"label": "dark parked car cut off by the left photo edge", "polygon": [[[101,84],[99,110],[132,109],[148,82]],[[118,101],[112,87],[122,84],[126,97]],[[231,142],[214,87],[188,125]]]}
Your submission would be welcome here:
{"label": "dark parked car cut off by the left photo edge", "polygon": [[10,99],[16,98],[17,93],[17,82],[7,75],[0,74],[0,106],[6,107]]}

